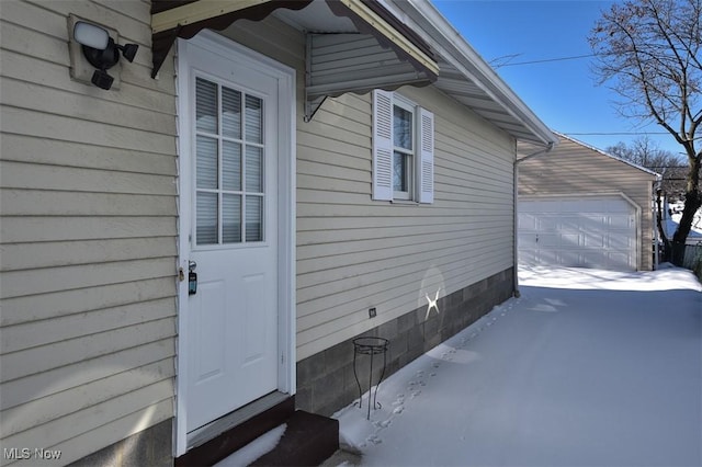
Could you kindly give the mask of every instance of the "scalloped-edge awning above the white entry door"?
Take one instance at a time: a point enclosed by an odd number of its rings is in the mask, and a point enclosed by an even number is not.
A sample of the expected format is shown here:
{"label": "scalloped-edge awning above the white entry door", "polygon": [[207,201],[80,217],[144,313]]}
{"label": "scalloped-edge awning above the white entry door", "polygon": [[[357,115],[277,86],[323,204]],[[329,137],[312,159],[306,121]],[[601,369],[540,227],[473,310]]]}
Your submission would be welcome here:
{"label": "scalloped-edge awning above the white entry door", "polygon": [[[377,1],[152,0],[151,76],[177,37],[191,38],[203,29],[222,31],[237,20],[259,21],[274,12],[310,33],[308,101],[375,88],[426,86],[439,75],[439,64],[427,43]],[[359,42],[364,42],[363,50],[354,50]],[[330,52],[336,54],[333,64],[326,59]]]}

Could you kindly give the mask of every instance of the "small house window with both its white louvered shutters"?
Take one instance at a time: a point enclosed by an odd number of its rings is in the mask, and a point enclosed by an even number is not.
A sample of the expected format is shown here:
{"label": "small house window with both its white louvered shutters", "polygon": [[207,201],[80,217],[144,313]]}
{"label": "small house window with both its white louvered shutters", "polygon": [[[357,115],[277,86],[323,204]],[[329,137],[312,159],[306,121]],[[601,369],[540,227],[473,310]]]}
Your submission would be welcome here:
{"label": "small house window with both its white louvered shutters", "polygon": [[399,94],[373,93],[373,200],[433,202],[433,114]]}

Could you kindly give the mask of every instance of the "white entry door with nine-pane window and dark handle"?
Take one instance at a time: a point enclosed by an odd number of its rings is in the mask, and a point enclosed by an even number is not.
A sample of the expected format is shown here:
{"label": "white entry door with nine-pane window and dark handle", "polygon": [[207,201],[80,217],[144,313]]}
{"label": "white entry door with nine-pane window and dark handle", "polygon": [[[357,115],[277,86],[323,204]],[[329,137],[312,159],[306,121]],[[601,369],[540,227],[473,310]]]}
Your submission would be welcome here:
{"label": "white entry door with nine-pane window and dark handle", "polygon": [[[281,387],[279,112],[275,76],[189,43],[181,112],[183,255],[196,291],[181,310],[186,431]],[[182,70],[182,68],[181,68]],[[181,102],[183,102],[181,100]],[[183,237],[181,236],[181,239]],[[183,240],[181,240],[183,241]],[[188,272],[185,272],[188,276]],[[183,297],[183,294],[181,294]],[[182,386],[180,386],[182,387]],[[181,403],[182,401],[179,401]]]}

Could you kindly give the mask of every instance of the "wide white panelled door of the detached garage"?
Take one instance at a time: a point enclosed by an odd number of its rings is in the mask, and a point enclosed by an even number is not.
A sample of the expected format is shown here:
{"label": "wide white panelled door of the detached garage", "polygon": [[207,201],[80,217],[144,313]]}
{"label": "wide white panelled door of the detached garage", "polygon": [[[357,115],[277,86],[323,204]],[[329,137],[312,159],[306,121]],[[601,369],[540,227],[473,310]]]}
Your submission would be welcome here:
{"label": "wide white panelled door of the detached garage", "polygon": [[622,197],[519,202],[519,262],[636,270],[636,208]]}

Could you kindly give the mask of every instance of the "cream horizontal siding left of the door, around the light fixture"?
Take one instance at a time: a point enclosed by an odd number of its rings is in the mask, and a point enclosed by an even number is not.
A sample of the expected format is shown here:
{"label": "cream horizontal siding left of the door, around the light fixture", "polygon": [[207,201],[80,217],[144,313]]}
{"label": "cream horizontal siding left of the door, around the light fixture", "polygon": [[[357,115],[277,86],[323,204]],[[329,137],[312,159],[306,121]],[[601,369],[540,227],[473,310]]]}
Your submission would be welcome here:
{"label": "cream horizontal siding left of the door, around the light fixture", "polygon": [[[172,60],[150,78],[148,3],[98,7],[0,20],[1,444],[60,464],[173,417]],[[120,90],[70,79],[69,13],[139,44]]]}

